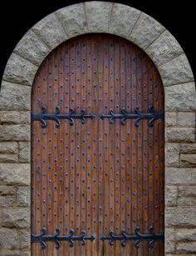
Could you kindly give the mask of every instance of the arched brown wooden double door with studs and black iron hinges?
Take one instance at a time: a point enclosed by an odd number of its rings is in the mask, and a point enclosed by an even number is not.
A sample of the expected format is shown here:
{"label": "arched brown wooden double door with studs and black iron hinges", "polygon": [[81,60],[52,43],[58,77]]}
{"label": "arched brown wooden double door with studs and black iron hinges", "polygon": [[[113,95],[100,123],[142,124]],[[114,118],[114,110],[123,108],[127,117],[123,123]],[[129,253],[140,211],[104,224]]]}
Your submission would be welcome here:
{"label": "arched brown wooden double door with studs and black iron hinges", "polygon": [[159,73],[135,44],[86,34],[45,59],[32,87],[32,255],[164,255],[163,118]]}

